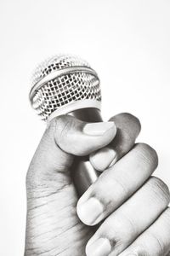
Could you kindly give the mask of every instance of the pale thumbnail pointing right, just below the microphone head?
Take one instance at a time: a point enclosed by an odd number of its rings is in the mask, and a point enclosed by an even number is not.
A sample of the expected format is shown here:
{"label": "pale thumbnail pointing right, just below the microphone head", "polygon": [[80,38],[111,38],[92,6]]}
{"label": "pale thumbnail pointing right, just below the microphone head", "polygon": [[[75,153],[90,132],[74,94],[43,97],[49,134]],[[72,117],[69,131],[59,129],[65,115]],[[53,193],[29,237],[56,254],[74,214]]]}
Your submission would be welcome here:
{"label": "pale thumbnail pointing right, just below the microphone head", "polygon": [[84,125],[83,132],[88,135],[102,136],[105,131],[108,131],[111,128],[116,130],[116,125],[114,122],[90,123]]}

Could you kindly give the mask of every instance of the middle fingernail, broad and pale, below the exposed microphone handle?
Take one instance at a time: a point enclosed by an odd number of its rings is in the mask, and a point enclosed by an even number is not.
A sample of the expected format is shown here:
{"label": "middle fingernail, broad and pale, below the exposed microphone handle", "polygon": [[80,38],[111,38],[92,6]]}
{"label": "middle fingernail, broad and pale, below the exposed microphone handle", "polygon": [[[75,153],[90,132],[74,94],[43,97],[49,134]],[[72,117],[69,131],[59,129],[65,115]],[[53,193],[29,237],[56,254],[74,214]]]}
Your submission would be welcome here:
{"label": "middle fingernail, broad and pale, below the exposed microphone handle", "polygon": [[78,217],[84,224],[93,225],[104,212],[104,207],[96,198],[91,197],[88,201],[77,205]]}

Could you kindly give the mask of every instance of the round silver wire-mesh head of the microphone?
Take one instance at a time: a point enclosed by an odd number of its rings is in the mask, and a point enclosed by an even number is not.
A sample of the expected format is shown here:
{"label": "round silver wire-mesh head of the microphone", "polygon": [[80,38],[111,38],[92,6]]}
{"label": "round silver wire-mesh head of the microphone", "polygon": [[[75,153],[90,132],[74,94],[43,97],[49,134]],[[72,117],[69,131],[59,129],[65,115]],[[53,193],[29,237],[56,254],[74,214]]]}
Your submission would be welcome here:
{"label": "round silver wire-mesh head of the microphone", "polygon": [[32,81],[31,105],[42,120],[74,102],[101,101],[97,74],[77,56],[58,55],[42,62]]}

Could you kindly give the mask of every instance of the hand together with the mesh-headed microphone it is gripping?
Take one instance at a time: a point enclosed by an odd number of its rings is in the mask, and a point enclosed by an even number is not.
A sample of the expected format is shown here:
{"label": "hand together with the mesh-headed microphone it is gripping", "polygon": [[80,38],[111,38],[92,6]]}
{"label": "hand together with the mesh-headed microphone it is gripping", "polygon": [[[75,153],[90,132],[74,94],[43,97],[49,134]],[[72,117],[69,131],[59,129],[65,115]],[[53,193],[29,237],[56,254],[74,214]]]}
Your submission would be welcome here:
{"label": "hand together with the mesh-headed microphone it is gripping", "polygon": [[156,152],[134,145],[131,114],[101,122],[99,79],[84,63],[59,56],[36,72],[31,103],[49,124],[27,173],[25,254],[85,255],[90,239],[90,256],[166,255],[169,192],[150,177]]}

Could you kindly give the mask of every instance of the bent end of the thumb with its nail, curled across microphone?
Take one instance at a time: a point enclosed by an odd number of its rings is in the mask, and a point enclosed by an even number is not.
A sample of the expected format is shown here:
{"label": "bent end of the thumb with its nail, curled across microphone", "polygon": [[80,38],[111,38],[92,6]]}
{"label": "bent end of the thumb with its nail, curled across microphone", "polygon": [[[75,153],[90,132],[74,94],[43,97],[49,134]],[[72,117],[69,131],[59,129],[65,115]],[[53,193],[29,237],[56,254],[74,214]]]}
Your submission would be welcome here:
{"label": "bent end of the thumb with its nail, curled across microphone", "polygon": [[86,123],[69,115],[55,119],[55,142],[66,153],[88,155],[116,136],[114,122]]}

